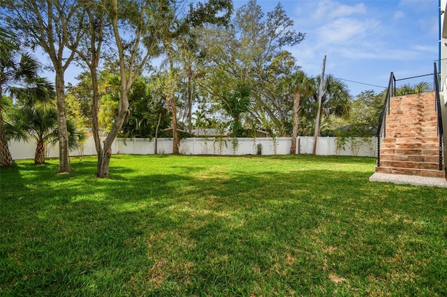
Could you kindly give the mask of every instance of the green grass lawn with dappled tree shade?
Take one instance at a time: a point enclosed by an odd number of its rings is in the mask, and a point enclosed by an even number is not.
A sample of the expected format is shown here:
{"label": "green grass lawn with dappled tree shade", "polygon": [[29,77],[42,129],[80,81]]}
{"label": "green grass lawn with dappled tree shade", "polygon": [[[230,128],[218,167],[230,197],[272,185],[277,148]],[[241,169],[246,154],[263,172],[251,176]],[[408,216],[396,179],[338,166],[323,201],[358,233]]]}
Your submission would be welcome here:
{"label": "green grass lawn with dappled tree shade", "polygon": [[447,189],[373,158],[47,162],[1,169],[0,296],[447,295]]}

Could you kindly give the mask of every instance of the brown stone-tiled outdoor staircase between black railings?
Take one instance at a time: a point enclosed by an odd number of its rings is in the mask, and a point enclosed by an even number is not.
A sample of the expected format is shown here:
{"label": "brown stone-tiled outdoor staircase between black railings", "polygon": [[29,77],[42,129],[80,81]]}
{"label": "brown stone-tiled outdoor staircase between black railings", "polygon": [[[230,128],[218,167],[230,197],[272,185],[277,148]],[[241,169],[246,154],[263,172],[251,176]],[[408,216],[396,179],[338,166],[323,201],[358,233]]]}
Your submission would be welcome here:
{"label": "brown stone-tiled outdoor staircase between black railings", "polygon": [[[434,92],[390,98],[377,173],[443,177]],[[444,159],[441,157],[441,159]]]}

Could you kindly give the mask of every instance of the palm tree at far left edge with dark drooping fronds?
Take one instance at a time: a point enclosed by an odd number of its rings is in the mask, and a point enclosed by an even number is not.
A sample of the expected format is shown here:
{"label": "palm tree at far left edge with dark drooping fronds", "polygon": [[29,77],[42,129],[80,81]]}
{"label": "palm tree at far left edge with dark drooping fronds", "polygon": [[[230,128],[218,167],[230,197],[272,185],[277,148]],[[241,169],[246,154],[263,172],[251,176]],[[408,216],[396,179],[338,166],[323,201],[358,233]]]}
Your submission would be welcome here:
{"label": "palm tree at far left edge with dark drooping fronds", "polygon": [[[38,77],[38,62],[29,54],[22,54],[13,45],[13,36],[0,28],[0,98],[7,91],[17,101],[32,103],[47,100],[54,95],[52,85]],[[4,47],[3,47],[4,46]],[[0,100],[0,166],[13,166],[3,121],[3,105]]]}

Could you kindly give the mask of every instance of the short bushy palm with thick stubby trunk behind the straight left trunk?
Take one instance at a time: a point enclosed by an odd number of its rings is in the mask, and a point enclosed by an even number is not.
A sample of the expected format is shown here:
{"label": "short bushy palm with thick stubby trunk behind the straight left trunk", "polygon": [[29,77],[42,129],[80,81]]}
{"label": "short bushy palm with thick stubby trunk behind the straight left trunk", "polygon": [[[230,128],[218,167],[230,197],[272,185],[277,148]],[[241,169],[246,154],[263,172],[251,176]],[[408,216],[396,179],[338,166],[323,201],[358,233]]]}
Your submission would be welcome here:
{"label": "short bushy palm with thick stubby trunk behind the straight left trunk", "polygon": [[[7,135],[13,139],[36,140],[35,164],[45,163],[45,145],[54,145],[58,141],[57,110],[45,105],[25,105],[17,108],[10,116]],[[84,130],[78,130],[74,121],[68,119],[68,148],[80,148],[86,138]],[[22,131],[22,132],[21,132]],[[25,133],[23,133],[23,131]]]}

